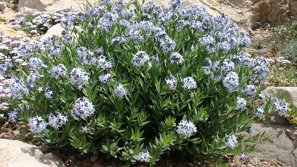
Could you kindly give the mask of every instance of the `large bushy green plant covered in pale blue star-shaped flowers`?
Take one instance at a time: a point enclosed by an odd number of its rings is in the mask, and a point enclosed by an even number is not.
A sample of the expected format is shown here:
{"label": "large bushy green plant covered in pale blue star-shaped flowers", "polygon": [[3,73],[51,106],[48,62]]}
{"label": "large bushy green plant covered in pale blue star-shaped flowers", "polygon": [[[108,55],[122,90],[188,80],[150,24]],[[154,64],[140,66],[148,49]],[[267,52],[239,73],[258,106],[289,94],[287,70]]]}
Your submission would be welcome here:
{"label": "large bushy green plant covered in pale blue star-shaped flowers", "polygon": [[54,146],[128,164],[153,165],[162,154],[210,163],[256,152],[241,143],[270,137],[243,140],[239,133],[252,133],[251,123],[269,122],[270,112],[286,108],[272,100],[250,105],[265,98],[259,84],[269,59],[243,52],[248,33],[225,13],[214,17],[180,0],[165,11],[155,2],[102,0],[61,26],[62,37],[21,45],[27,63],[7,67],[9,119]]}

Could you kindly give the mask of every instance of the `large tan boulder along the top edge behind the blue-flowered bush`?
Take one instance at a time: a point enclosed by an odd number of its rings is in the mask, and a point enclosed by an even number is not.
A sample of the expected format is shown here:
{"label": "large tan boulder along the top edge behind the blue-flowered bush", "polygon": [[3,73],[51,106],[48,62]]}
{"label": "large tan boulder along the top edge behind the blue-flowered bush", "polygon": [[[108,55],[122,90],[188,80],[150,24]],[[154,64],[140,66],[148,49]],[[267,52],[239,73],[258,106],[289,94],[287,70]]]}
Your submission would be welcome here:
{"label": "large tan boulder along the top edge behind the blue-flowered bush", "polygon": [[[19,12],[31,14],[32,11],[39,11],[41,14],[52,12],[66,6],[72,6],[75,10],[84,8],[86,0],[19,0]],[[91,4],[95,0],[89,0]],[[169,0],[156,0],[157,4],[167,8]],[[252,28],[259,26],[255,22],[262,24],[269,22],[276,23],[279,16],[281,20],[286,12],[291,10],[291,14],[297,16],[297,2],[288,0],[184,0],[183,5],[197,4],[205,5],[209,12],[218,15],[226,12],[235,21],[239,30],[245,29],[252,33]]]}

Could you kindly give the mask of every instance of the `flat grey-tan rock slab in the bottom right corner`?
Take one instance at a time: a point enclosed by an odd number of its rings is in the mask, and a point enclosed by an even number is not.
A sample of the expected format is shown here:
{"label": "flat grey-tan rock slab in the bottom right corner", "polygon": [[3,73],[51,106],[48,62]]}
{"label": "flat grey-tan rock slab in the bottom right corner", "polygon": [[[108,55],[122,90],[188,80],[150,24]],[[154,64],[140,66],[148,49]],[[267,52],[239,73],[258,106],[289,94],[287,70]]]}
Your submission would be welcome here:
{"label": "flat grey-tan rock slab in the bottom right corner", "polygon": [[[256,143],[257,150],[264,150],[261,152],[262,155],[248,153],[247,155],[256,155],[260,158],[275,159],[288,166],[297,166],[297,128],[283,125],[271,125],[271,124],[252,124],[253,132],[252,135],[258,133],[262,134],[263,137],[273,136],[275,144],[271,143],[270,140]],[[243,132],[242,135],[246,135],[248,138],[250,135],[247,132]],[[244,139],[245,139],[244,138]],[[243,147],[253,146],[255,143],[243,143]]]}

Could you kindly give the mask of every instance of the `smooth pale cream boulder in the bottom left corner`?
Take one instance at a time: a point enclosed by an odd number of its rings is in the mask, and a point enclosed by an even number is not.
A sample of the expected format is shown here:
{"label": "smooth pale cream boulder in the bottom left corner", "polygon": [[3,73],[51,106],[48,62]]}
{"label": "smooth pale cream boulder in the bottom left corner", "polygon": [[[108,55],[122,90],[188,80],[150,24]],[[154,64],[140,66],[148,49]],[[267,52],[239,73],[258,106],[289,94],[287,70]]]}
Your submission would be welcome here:
{"label": "smooth pale cream boulder in the bottom left corner", "polygon": [[18,140],[0,139],[0,166],[65,167],[54,153],[43,154],[35,145]]}

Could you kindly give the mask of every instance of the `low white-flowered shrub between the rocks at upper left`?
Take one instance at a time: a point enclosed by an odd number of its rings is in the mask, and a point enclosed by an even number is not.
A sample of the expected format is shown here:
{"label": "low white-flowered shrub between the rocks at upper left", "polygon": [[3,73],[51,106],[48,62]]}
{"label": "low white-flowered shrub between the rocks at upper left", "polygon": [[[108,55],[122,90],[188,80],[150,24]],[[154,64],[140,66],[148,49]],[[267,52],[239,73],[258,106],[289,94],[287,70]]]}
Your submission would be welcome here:
{"label": "low white-flowered shrub between the rocks at upper left", "polygon": [[73,15],[76,12],[71,7],[65,7],[52,13],[39,15],[38,11],[32,12],[30,18],[26,18],[26,14],[15,13],[16,19],[11,22],[14,28],[20,29],[31,34],[45,33],[50,27],[60,23],[61,19]]}

